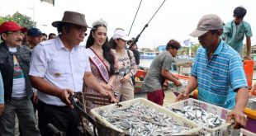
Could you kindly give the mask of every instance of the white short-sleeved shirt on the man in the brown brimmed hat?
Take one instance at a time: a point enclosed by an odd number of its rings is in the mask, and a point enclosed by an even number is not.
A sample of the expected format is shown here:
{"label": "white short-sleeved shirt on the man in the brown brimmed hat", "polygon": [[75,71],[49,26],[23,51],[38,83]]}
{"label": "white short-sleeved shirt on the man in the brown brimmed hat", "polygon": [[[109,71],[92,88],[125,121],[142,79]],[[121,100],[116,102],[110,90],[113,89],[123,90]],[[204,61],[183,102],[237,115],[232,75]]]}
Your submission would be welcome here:
{"label": "white short-sleeved shirt on the man in the brown brimmed hat", "polygon": [[[83,76],[91,72],[88,54],[84,47],[66,49],[57,36],[36,45],[32,51],[30,75],[43,77],[46,82],[60,89],[83,90]],[[65,106],[58,97],[38,91],[40,101],[55,106]]]}

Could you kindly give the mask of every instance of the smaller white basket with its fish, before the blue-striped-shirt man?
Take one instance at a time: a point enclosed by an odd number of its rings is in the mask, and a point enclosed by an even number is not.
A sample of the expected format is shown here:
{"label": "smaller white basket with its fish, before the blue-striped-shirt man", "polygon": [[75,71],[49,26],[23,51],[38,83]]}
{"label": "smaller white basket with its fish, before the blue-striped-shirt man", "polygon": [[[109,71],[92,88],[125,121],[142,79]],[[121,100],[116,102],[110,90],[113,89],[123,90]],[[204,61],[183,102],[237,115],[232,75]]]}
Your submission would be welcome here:
{"label": "smaller white basket with its fish, before the blue-striped-shirt man", "polygon": [[202,127],[199,132],[200,135],[230,135],[231,124],[225,122],[225,120],[231,110],[192,98],[175,102],[166,106],[166,108],[199,124]]}

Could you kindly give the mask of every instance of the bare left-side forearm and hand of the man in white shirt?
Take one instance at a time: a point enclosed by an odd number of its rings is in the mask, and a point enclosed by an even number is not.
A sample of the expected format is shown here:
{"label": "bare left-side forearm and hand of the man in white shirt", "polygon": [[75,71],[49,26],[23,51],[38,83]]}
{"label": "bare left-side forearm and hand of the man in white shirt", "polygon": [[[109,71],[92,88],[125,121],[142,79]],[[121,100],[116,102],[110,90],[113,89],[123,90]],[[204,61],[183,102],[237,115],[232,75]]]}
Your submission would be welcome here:
{"label": "bare left-side forearm and hand of the man in white shirt", "polygon": [[61,101],[63,101],[67,106],[72,106],[71,101],[69,101],[69,93],[74,95],[73,91],[70,89],[60,89],[50,84],[50,82],[46,82],[44,78],[30,76],[31,85],[35,87],[37,90],[51,95],[59,97]]}

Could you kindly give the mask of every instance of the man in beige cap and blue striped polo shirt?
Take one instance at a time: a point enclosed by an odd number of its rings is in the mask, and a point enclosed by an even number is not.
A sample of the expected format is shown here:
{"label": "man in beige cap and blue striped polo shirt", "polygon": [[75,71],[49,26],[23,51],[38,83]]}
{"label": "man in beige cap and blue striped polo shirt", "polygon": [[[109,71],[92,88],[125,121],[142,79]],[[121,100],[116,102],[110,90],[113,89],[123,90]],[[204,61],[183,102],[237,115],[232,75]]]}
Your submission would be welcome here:
{"label": "man in beige cap and blue striped polo shirt", "polygon": [[190,34],[198,37],[201,47],[197,49],[192,77],[176,101],[186,99],[198,87],[198,100],[232,109],[227,121],[234,118],[235,128],[239,128],[246,124],[248,85],[238,52],[220,39],[223,26],[219,16],[208,14]]}

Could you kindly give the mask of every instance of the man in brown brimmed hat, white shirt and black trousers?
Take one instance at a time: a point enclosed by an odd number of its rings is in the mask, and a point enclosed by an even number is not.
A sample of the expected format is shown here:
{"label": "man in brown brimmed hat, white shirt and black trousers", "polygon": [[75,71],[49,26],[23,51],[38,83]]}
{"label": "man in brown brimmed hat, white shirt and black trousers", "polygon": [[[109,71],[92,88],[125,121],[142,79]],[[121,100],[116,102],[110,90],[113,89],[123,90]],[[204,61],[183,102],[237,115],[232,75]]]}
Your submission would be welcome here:
{"label": "man in brown brimmed hat, white shirt and black trousers", "polygon": [[62,21],[55,21],[59,35],[36,45],[31,59],[31,83],[37,89],[38,118],[41,134],[48,135],[47,124],[53,124],[66,135],[78,135],[78,108],[69,101],[69,93],[83,91],[83,82],[102,95],[110,91],[98,86],[92,75],[88,54],[80,42],[88,25],[78,12],[64,12]]}

